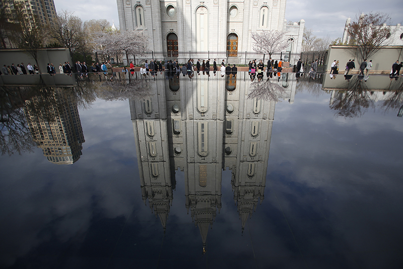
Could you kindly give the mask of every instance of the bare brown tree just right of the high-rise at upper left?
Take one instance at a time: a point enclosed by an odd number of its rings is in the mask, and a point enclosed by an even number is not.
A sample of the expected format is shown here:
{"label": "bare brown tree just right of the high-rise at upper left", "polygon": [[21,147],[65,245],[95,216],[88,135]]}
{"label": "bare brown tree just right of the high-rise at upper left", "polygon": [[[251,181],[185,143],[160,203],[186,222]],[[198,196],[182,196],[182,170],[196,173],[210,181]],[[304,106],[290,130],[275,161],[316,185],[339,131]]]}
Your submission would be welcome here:
{"label": "bare brown tree just right of the high-rise at upper left", "polygon": [[57,13],[53,23],[49,25],[49,36],[57,43],[68,48],[70,56],[76,51],[82,52],[87,49],[83,22],[71,12],[61,11]]}

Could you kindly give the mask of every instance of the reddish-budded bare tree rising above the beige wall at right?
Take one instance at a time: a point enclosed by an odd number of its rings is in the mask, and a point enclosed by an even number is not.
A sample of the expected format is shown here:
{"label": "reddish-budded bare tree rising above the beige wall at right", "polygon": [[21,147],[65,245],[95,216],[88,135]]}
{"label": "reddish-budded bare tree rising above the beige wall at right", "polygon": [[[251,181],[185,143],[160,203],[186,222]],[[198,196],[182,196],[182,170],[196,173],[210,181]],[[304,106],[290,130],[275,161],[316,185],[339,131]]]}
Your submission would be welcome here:
{"label": "reddish-budded bare tree rising above the beige wall at right", "polygon": [[386,26],[387,23],[390,23],[390,17],[380,12],[361,14],[351,22],[348,29],[350,43],[357,45],[363,59],[370,58],[392,41],[389,37],[393,36],[393,30]]}

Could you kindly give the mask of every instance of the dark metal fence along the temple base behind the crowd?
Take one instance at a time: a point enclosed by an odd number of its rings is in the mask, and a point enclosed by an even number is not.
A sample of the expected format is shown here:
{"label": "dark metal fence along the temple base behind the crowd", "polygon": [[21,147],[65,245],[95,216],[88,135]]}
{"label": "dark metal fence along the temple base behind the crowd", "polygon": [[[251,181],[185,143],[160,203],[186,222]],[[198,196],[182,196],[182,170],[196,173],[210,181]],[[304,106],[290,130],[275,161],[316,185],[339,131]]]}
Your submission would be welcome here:
{"label": "dark metal fence along the temple base behind the crowd", "polygon": [[[290,66],[297,64],[299,58],[305,64],[309,64],[315,59],[318,59],[319,65],[324,65],[326,62],[327,51],[307,51],[301,53],[291,53],[291,52],[279,52],[273,53],[272,59],[290,62]],[[194,59],[193,63],[197,61],[197,59],[210,59],[210,65],[213,65],[214,59],[216,59],[217,64],[220,65],[221,61],[224,60],[225,63],[237,64],[237,65],[247,65],[250,60],[263,60],[263,62],[267,62],[270,58],[269,54],[259,53],[255,51],[238,51],[237,56],[228,56],[228,51],[171,51],[171,52],[156,52],[150,51],[145,52],[142,55],[103,55],[100,57],[102,59],[110,59],[112,64],[117,65],[126,65],[128,66],[130,61],[135,65],[142,65],[146,60],[156,59],[156,60],[175,60],[177,59],[179,64],[186,63],[188,59]],[[98,59],[97,59],[98,61]]]}

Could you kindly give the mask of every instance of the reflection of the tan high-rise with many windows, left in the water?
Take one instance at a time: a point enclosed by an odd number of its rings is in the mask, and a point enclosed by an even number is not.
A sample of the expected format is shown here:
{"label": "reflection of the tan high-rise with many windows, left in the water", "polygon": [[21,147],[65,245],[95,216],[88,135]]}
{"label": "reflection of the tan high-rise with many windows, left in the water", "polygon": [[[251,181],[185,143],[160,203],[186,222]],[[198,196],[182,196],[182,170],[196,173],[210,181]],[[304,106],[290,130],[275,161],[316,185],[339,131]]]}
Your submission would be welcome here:
{"label": "reflection of the tan high-rise with many windows, left in the water", "polygon": [[24,107],[33,141],[49,162],[75,163],[85,140],[73,88],[33,91]]}

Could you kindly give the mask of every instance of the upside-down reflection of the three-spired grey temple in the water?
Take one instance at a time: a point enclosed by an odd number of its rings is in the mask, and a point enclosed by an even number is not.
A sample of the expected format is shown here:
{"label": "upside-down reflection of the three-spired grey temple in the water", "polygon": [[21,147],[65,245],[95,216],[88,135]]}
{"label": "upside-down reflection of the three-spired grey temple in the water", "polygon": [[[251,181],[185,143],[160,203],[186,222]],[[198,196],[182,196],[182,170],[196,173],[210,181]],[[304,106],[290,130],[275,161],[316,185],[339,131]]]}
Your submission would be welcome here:
{"label": "upside-down reflection of the three-spired grey temple in the water", "polygon": [[[248,74],[149,82],[150,98],[129,99],[143,199],[165,231],[175,171],[184,171],[185,207],[205,249],[222,207],[222,170],[229,169],[243,231],[264,198],[277,100],[248,99]],[[276,83],[284,89],[280,98],[292,103],[295,81],[284,76]]]}

